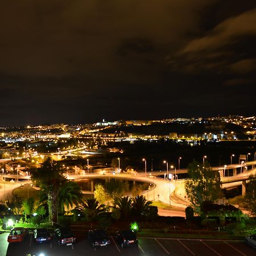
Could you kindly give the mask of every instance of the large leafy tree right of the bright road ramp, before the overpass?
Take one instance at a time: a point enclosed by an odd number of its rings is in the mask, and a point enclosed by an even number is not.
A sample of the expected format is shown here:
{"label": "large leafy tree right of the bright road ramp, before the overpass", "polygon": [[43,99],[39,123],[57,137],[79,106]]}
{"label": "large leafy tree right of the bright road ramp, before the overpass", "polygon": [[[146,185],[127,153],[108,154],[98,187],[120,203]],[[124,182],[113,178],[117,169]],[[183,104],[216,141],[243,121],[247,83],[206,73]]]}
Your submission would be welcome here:
{"label": "large leafy tree right of the bright road ramp, before the overpass", "polygon": [[220,175],[212,171],[209,163],[204,166],[195,160],[188,165],[189,179],[185,181],[185,191],[195,212],[200,212],[203,201],[216,201],[220,198]]}

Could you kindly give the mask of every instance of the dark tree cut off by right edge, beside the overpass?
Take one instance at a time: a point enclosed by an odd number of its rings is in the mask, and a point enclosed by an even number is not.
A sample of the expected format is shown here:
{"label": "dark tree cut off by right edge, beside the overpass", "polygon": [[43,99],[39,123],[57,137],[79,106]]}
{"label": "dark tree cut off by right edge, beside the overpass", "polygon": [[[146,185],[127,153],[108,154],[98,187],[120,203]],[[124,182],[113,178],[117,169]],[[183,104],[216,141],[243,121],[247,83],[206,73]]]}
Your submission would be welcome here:
{"label": "dark tree cut off by right edge, beside the overpass", "polygon": [[253,176],[250,176],[250,182],[246,186],[245,204],[250,213],[256,216],[256,179]]}

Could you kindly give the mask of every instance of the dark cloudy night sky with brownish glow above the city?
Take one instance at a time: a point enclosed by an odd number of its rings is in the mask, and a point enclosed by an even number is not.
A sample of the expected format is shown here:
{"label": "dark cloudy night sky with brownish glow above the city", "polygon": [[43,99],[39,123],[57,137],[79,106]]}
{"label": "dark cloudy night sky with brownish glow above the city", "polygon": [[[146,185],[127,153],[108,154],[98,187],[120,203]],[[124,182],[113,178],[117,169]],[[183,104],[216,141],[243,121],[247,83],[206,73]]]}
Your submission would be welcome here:
{"label": "dark cloudy night sky with brownish glow above the city", "polygon": [[0,126],[254,115],[255,0],[8,0]]}

